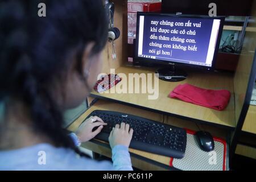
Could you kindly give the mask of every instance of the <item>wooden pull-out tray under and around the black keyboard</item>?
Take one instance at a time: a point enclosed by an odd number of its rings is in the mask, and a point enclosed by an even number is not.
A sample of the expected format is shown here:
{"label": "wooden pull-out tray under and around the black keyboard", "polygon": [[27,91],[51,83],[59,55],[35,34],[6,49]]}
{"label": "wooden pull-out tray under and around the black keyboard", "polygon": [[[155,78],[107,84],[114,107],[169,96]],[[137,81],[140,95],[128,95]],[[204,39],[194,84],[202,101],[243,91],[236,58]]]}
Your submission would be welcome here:
{"label": "wooden pull-out tray under and around the black keyboard", "polygon": [[[180,119],[176,117],[167,117],[167,115],[154,113],[154,112],[143,110],[143,109],[137,109],[127,105],[117,104],[111,101],[98,100],[92,106],[90,106],[89,109],[86,110],[84,114],[82,114],[79,118],[77,118],[76,121],[73,122],[72,125],[68,127],[68,130],[76,131],[77,128],[81,125],[82,121],[84,121],[84,119],[93,110],[112,110],[112,111],[125,112],[127,114],[138,115],[139,117],[152,119],[154,121],[158,121],[161,123],[163,123],[165,120],[168,120],[164,123],[167,123],[173,126],[186,127],[187,129],[192,129],[196,131],[199,130],[198,126],[200,128],[207,127],[206,125],[196,126],[195,122],[185,121],[184,119]],[[208,131],[209,130],[210,129],[208,128]],[[213,130],[210,130],[210,132],[212,131]],[[217,137],[223,137],[226,134],[226,131],[224,131],[223,129],[219,130],[219,133],[221,132],[223,133],[220,135],[217,135]],[[97,154],[101,154],[109,158],[111,158],[111,155],[112,155],[109,144],[106,142],[102,142],[100,140],[94,139],[90,142],[83,143],[82,147],[85,147],[93,152],[96,152]],[[131,154],[131,160],[134,167],[137,167],[139,169],[144,169],[144,170],[174,169],[169,167],[170,158],[167,156],[156,155],[156,154],[152,154],[152,153],[148,153],[140,150],[135,150],[133,148],[130,148],[129,151]]]}

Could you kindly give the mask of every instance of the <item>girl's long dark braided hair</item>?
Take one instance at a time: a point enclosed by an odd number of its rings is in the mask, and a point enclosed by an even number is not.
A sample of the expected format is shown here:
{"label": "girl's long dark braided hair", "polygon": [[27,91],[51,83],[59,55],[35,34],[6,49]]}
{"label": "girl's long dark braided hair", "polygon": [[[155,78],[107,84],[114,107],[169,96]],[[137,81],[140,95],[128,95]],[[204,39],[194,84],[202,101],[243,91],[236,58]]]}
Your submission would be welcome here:
{"label": "girl's long dark braided hair", "polygon": [[[38,4],[46,4],[46,17]],[[62,129],[61,110],[49,88],[64,80],[75,53],[82,74],[82,51],[95,42],[92,55],[107,40],[108,23],[101,0],[3,0],[0,2],[0,101],[21,100],[30,109],[34,129],[56,146],[74,148]]]}

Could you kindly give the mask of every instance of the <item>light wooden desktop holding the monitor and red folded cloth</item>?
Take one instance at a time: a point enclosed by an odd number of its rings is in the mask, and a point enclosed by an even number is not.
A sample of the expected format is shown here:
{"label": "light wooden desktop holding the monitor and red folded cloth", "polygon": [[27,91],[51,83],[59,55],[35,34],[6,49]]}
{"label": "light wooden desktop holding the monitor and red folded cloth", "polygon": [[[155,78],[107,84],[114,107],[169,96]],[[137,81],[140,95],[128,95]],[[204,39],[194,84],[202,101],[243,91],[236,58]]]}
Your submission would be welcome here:
{"label": "light wooden desktop holding the monitor and red folded cloth", "polygon": [[[127,77],[129,73],[154,73],[154,70],[119,67],[115,73],[124,73]],[[135,81],[129,80],[129,84]],[[209,109],[203,106],[193,105],[187,102],[169,98],[168,94],[179,84],[189,83],[201,88],[207,89],[227,89],[232,93],[228,107],[223,111]],[[119,83],[121,84],[121,82]],[[141,83],[146,86],[146,83]],[[127,85],[128,88],[128,85]],[[159,80],[159,97],[156,100],[148,100],[148,94],[143,93],[125,93],[118,94],[114,92],[115,87],[105,93],[92,92],[91,96],[101,97],[116,102],[139,106],[143,109],[154,110],[165,114],[174,114],[181,117],[197,119],[216,125],[235,127],[234,119],[234,94],[233,94],[233,76],[229,73],[188,73],[188,78],[180,82],[166,82]],[[109,92],[109,93],[108,93]],[[128,91],[127,91],[128,92]]]}

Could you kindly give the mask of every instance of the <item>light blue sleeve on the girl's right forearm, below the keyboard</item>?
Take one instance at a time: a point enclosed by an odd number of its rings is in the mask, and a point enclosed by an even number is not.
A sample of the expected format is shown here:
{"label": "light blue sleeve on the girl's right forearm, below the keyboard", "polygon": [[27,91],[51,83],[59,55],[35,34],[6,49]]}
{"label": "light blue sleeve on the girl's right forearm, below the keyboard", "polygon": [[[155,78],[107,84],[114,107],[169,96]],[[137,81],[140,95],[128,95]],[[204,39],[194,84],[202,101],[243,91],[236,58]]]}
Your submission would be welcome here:
{"label": "light blue sleeve on the girl's right forearm, below the keyboard", "polygon": [[112,149],[113,167],[117,171],[133,171],[128,147],[117,145]]}

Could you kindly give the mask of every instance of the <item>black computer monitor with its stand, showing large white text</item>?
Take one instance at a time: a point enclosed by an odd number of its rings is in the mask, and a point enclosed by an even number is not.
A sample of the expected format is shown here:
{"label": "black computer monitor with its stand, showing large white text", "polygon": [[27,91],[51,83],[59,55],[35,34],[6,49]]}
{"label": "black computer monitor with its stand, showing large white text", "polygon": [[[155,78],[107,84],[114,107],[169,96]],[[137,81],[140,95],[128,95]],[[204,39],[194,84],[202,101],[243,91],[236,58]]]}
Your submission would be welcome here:
{"label": "black computer monitor with its stand, showing large white text", "polygon": [[184,69],[175,69],[176,65],[212,70],[224,19],[224,16],[138,13],[134,64],[164,67],[157,73],[166,81],[187,77]]}

